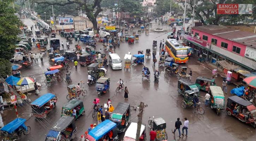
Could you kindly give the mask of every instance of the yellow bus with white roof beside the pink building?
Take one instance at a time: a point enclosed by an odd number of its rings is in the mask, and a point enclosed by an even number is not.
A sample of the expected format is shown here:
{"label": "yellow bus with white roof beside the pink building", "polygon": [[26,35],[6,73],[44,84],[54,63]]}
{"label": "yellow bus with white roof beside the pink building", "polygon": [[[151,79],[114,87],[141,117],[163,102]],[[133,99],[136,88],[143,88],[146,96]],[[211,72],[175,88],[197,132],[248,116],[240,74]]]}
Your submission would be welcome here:
{"label": "yellow bus with white roof beside the pink building", "polygon": [[176,39],[167,39],[165,50],[168,51],[169,56],[174,58],[175,63],[186,63],[189,61],[187,48]]}

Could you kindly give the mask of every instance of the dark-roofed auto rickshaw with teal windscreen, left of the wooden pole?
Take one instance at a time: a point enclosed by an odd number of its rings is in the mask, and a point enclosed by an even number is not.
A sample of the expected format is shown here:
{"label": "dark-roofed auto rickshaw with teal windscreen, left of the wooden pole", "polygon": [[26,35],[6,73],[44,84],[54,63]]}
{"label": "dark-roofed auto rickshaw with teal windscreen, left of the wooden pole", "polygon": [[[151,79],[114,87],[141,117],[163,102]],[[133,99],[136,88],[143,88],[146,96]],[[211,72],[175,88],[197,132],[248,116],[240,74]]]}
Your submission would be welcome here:
{"label": "dark-roofed auto rickshaw with teal windscreen, left of the wooden pole", "polygon": [[119,102],[111,114],[111,121],[117,124],[117,133],[122,133],[128,127],[131,117],[130,103]]}

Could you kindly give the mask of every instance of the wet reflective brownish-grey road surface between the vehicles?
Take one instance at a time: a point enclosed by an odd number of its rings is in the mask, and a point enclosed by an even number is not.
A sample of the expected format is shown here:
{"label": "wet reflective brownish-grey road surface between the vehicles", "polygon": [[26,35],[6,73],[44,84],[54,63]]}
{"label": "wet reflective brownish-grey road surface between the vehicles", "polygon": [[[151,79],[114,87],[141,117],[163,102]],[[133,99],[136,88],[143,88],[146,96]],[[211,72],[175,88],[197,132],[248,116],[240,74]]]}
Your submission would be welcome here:
{"label": "wet reflective brownish-grey road surface between the vehicles", "polygon": [[[25,24],[32,25],[32,21],[30,19],[25,19]],[[137,31],[137,30],[136,30]],[[64,37],[60,37],[57,35],[61,41],[65,41]],[[153,40],[157,40],[159,43],[160,40],[166,39],[166,33],[150,33],[149,35],[145,35],[142,33],[139,36],[139,42],[135,42],[134,44],[121,43],[120,48],[117,48],[115,53],[117,53],[121,59],[124,58],[125,53],[131,51],[131,54],[137,54],[137,50],[143,50],[145,53],[146,48],[150,48],[152,52],[152,42]],[[71,45],[71,49],[73,50],[74,45],[77,42]],[[102,43],[97,43],[96,50],[98,51],[102,48]],[[159,45],[159,44],[158,44]],[[48,45],[49,46],[49,45]],[[82,47],[85,47],[82,45]],[[48,47],[49,48],[49,47]],[[65,47],[66,48],[66,47]],[[157,51],[159,46],[157,47]],[[159,52],[157,52],[157,60],[159,60]],[[22,71],[22,74],[31,74],[35,76],[36,80],[42,84],[40,95],[51,92],[57,95],[58,102],[56,103],[56,108],[51,111],[47,115],[47,119],[41,119],[40,121],[35,120],[34,117],[29,117],[29,112],[31,111],[29,105],[26,105],[23,108],[18,108],[18,112],[20,117],[28,119],[26,125],[31,126],[31,133],[27,136],[23,136],[23,141],[43,141],[45,140],[46,134],[52,125],[58,121],[61,115],[61,107],[68,102],[66,99],[67,95],[67,84],[63,82],[55,82],[52,87],[46,87],[44,84],[44,75],[43,73],[47,71],[47,67],[49,67],[48,59],[44,57],[44,63],[35,64],[34,66]],[[73,64],[70,64],[73,66]],[[123,62],[124,65],[124,62]],[[212,109],[205,108],[204,96],[205,92],[200,92],[200,102],[205,110],[204,115],[199,115],[195,108],[181,108],[181,101],[183,98],[178,95],[177,92],[177,77],[169,76],[168,78],[164,77],[163,68],[158,68],[158,63],[156,63],[156,67],[153,66],[152,56],[151,59],[145,59],[145,66],[149,67],[151,74],[155,71],[155,69],[159,69],[161,75],[159,84],[154,83],[154,77],[151,76],[149,83],[147,80],[141,79],[142,65],[133,66],[131,70],[111,70],[108,67],[107,76],[110,77],[110,90],[103,94],[100,97],[100,104],[104,105],[107,102],[107,99],[110,98],[112,100],[113,106],[117,106],[118,102],[128,102],[132,106],[137,107],[139,102],[144,102],[148,105],[145,108],[143,115],[143,123],[148,123],[149,117],[154,116],[155,118],[162,117],[166,121],[167,125],[167,134],[168,140],[187,140],[187,141],[231,141],[231,140],[246,140],[246,141],[254,141],[256,137],[256,131],[248,124],[244,124],[240,122],[238,119],[234,117],[227,116],[225,110],[221,111],[221,114],[218,116]],[[197,76],[207,76],[212,77],[212,72],[201,66],[200,63],[196,61],[195,58],[191,58],[189,63],[182,64],[181,66],[187,66],[188,71],[193,71],[192,80],[195,82]],[[75,68],[71,70],[73,84],[77,84],[81,80],[87,82],[87,67],[78,66],[78,70],[75,71]],[[115,89],[117,87],[117,81],[119,79],[124,80],[124,85],[129,89],[129,99],[124,99],[124,91],[120,93],[116,93]],[[216,78],[216,84],[221,86],[221,78]],[[83,100],[85,106],[85,115],[79,117],[76,120],[77,126],[77,134],[75,141],[81,140],[80,136],[88,129],[90,124],[97,123],[96,118],[93,119],[91,117],[93,110],[91,109],[92,100],[98,98],[97,92],[95,91],[95,86],[89,87],[88,85],[83,85],[88,94],[85,97],[81,97],[80,100]],[[228,86],[228,92],[233,88],[233,85]],[[226,99],[230,94],[225,95]],[[39,96],[35,96],[35,94],[31,94],[31,100],[35,100]],[[226,103],[226,102],[225,102]],[[15,118],[15,112],[13,110],[8,111],[8,115],[5,114],[3,119],[5,124],[10,122]],[[23,113],[23,114],[22,114]],[[135,112],[132,110],[131,121],[137,122],[138,111]],[[178,131],[176,134],[172,134],[171,130],[174,128],[174,123],[177,118],[181,118],[182,124],[184,124],[184,117],[187,117],[189,120],[189,136],[181,138],[178,137]],[[181,126],[183,127],[183,125]],[[147,128],[147,139],[150,140],[149,136],[149,128]],[[120,135],[120,140],[122,139],[124,134]]]}

